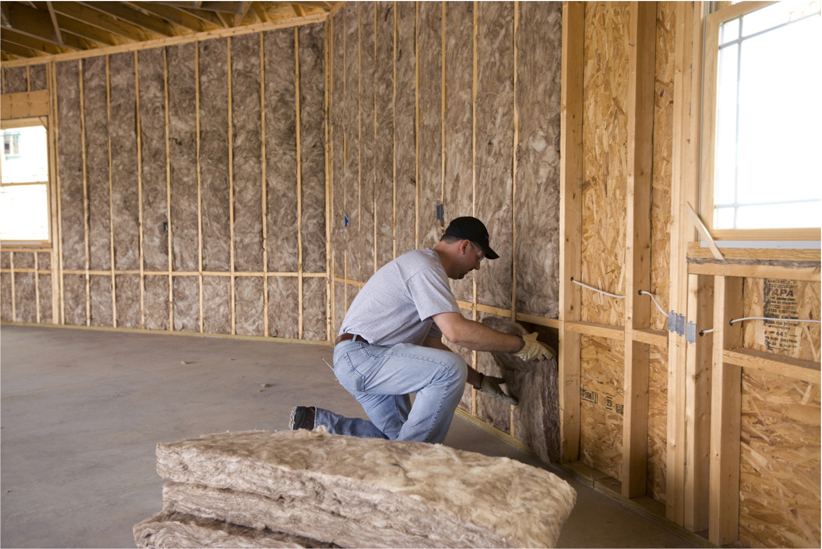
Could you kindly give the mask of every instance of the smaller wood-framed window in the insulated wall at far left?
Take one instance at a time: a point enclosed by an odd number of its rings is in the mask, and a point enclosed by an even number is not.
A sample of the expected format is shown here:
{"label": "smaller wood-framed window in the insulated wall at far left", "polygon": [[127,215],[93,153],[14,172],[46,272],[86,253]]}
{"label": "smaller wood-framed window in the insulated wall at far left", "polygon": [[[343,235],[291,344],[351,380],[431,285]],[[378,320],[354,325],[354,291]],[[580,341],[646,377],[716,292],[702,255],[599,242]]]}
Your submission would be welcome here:
{"label": "smaller wood-framed window in the insulated wall at far left", "polygon": [[2,124],[0,240],[39,244],[49,240],[48,136],[44,118]]}

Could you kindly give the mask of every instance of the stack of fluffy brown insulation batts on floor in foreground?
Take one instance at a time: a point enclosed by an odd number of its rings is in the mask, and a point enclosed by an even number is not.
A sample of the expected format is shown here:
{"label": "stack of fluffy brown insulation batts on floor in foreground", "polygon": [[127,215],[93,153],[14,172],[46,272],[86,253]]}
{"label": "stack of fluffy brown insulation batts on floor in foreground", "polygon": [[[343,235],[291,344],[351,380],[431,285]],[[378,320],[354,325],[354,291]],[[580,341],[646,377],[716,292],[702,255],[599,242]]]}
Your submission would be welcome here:
{"label": "stack of fluffy brown insulation batts on floor in foreground", "polygon": [[511,459],[323,427],[160,444],[157,471],[138,547],[554,547],[576,501]]}

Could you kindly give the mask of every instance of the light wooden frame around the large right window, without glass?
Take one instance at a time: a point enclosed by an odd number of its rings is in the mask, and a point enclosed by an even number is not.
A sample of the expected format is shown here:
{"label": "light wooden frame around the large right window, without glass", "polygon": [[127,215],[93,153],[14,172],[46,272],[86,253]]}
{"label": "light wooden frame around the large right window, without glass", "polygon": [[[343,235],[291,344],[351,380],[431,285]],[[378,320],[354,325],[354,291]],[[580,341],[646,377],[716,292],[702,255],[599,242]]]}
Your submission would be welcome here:
{"label": "light wooden frame around the large right window, without glass", "polygon": [[[725,2],[721,2],[724,4]],[[722,24],[777,2],[739,2],[720,7],[705,16],[703,111],[702,111],[702,170],[700,178],[700,212],[717,240],[820,240],[820,228],[714,228],[714,173],[717,134],[717,91],[719,30]]]}

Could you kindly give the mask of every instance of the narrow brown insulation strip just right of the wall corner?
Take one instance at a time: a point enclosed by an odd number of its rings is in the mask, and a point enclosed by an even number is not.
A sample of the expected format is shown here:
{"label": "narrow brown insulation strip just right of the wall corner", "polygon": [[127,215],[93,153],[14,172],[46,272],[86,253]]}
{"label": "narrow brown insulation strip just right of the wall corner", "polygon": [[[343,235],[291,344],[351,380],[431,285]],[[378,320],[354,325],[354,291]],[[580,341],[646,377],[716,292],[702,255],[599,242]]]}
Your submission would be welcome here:
{"label": "narrow brown insulation strip just right of the wall corner", "polygon": [[[345,44],[342,16],[331,21],[331,90],[330,90],[330,132],[331,132],[331,268],[335,277],[343,278],[345,274]],[[343,287],[335,284],[335,301]],[[344,293],[343,293],[344,296]],[[344,300],[343,300],[344,301]],[[337,307],[339,309],[339,307]],[[335,321],[339,327],[339,322]]]}

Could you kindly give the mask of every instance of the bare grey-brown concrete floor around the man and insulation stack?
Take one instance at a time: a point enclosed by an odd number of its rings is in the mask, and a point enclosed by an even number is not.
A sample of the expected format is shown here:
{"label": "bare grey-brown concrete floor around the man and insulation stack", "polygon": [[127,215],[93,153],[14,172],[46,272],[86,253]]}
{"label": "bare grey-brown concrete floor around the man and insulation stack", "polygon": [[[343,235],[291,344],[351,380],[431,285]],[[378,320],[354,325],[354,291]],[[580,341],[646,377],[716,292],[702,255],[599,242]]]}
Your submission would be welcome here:
{"label": "bare grey-brown concrete floor around the man and insulation stack", "polygon": [[[3,325],[2,547],[134,547],[162,507],[155,445],[288,428],[295,404],[362,408],[323,345]],[[559,547],[695,547],[470,422],[446,444],[565,478],[577,504]]]}

